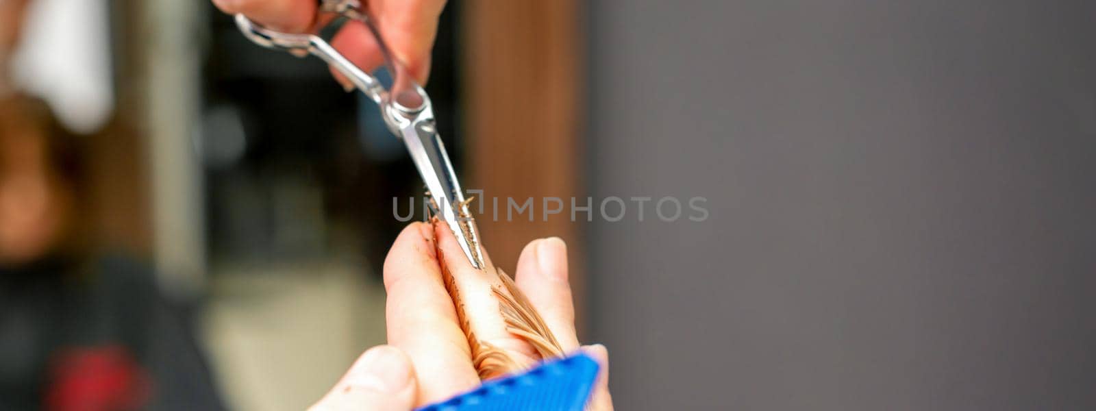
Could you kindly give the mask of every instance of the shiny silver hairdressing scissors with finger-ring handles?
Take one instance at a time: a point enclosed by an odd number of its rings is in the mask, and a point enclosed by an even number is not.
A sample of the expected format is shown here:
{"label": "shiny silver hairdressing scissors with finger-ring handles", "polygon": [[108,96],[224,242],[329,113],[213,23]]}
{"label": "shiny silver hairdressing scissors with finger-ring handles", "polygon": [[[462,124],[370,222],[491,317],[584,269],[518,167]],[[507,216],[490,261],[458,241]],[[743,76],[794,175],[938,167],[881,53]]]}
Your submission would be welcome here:
{"label": "shiny silver hairdressing scissors with finger-ring handles", "polygon": [[236,15],[236,25],[249,39],[263,47],[289,52],[295,56],[313,55],[327,61],[346,77],[356,89],[373,99],[380,109],[388,129],[403,140],[411,160],[419,169],[419,175],[426,184],[433,202],[431,209],[453,231],[468,262],[477,269],[483,267],[482,250],[476,220],[468,212],[460,182],[453,171],[453,163],[445,146],[437,135],[434,110],[426,91],[408,73],[407,69],[392,58],[375,20],[362,9],[358,0],[320,0],[315,33],[327,28],[339,20],[358,21],[365,24],[376,41],[391,76],[391,85],[385,85],[374,76],[362,70],[346,59],[318,34],[282,33],[263,27],[243,14]]}

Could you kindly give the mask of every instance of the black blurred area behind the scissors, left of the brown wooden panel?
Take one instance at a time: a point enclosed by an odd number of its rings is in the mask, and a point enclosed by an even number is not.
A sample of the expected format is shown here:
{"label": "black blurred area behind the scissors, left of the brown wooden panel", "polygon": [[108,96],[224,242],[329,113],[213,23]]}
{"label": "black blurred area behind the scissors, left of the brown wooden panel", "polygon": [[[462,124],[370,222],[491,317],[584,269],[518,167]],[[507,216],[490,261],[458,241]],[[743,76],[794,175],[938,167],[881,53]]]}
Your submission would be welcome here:
{"label": "black blurred area behind the scissors, left of the brown wooden panel", "polygon": [[[457,8],[441,21],[427,92],[459,167]],[[212,258],[292,260],[342,248],[365,253],[379,273],[403,226],[387,218],[390,198],[422,195],[402,142],[368,98],[332,87],[322,61],[256,47],[230,15],[209,9],[198,151]]]}

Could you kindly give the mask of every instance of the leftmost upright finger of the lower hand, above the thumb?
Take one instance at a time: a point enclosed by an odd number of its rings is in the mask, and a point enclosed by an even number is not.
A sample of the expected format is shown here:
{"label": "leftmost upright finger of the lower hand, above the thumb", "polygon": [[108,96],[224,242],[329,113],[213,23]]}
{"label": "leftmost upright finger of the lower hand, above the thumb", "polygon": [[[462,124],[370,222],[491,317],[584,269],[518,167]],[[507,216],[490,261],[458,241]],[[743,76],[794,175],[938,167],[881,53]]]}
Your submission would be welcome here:
{"label": "leftmost upright finger of the lower hand, above the thumb", "polygon": [[434,229],[413,222],[385,259],[388,343],[403,350],[419,376],[419,406],[441,401],[480,384],[468,339],[442,283]]}

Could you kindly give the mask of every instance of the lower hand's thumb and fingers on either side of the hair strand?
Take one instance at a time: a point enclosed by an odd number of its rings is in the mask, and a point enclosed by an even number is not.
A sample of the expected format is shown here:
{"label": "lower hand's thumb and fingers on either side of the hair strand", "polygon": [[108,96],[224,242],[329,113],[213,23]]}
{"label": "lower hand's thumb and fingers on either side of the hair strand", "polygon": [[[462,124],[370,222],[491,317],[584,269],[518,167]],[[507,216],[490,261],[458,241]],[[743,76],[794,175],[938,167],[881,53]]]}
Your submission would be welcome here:
{"label": "lower hand's thumb and fingers on either side of the hair strand", "polygon": [[[367,351],[315,410],[410,410],[480,385],[468,340],[442,284],[433,241],[433,228],[422,222],[411,224],[396,239],[385,261],[390,345]],[[590,409],[612,410],[608,353],[602,345],[579,346],[567,276],[567,246],[551,238],[525,247],[515,282],[563,350],[583,350],[601,363]]]}

